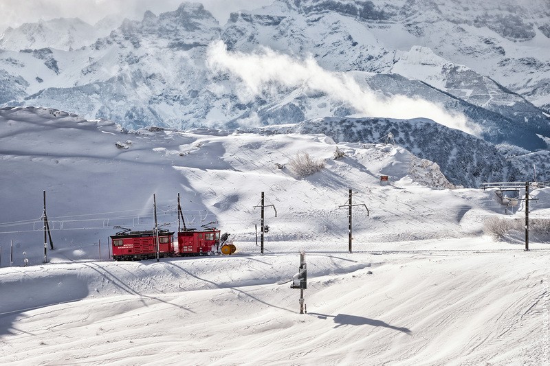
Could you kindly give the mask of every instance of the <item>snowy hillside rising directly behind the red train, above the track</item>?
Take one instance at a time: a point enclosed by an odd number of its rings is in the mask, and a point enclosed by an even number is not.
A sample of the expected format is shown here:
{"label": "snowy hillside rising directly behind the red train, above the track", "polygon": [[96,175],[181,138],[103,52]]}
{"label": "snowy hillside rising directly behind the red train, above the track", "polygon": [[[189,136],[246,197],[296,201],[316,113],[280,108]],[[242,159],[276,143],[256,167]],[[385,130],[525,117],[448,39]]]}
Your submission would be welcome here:
{"label": "snowy hillside rising directly behind the red train, above the track", "polygon": [[[153,193],[161,207],[161,222],[177,225],[175,198],[181,193],[191,226],[219,221],[236,238],[252,240],[254,224],[259,220],[259,210],[253,207],[261,192],[266,192],[279,212],[272,225],[272,240],[316,240],[316,234],[323,232],[334,240],[345,241],[347,212],[338,206],[347,201],[347,190],[356,190],[358,199],[374,200],[369,206],[376,211],[388,194],[387,189],[378,186],[379,175],[390,175],[395,182],[408,181],[408,173],[421,166],[415,163],[419,159],[398,146],[338,145],[347,156],[333,160],[337,145],[324,135],[265,137],[219,130],[183,133],[155,128],[124,133],[111,122],[89,122],[46,108],[5,110],[2,130],[3,171],[10,173],[1,177],[3,202],[12,207],[0,214],[1,222],[11,222],[3,230],[8,232],[3,241],[12,231],[21,231],[18,256],[27,251],[36,258],[34,263],[42,258],[41,246],[28,240],[41,236],[43,190],[50,202],[48,218],[60,234],[56,242],[61,250],[52,252],[52,260],[63,261],[75,259],[75,255],[94,258],[94,243],[105,243],[114,225],[150,227]],[[303,151],[315,159],[326,159],[327,168],[307,179],[296,179],[288,164]],[[287,166],[278,169],[277,163]],[[41,178],[30,180],[24,187],[11,183],[26,181],[25,177],[38,171]],[[423,174],[417,174],[418,179],[435,187],[452,186],[439,168],[434,172],[433,181],[424,181]],[[349,174],[354,177],[351,181]],[[414,189],[430,191],[429,187]],[[375,194],[373,190],[380,192]],[[317,196],[330,197],[332,203],[327,205]],[[435,215],[430,206],[439,205],[441,200],[452,202],[450,205],[459,210],[467,205],[451,191],[434,193],[436,196],[426,207],[428,216]],[[404,220],[412,216],[410,205],[398,204]],[[386,215],[389,213],[380,212],[373,222],[369,220],[369,225],[360,227],[386,227]],[[455,230],[460,231],[462,226],[452,214],[450,217],[450,224],[441,230],[456,236]],[[313,222],[297,224],[302,218]],[[365,211],[358,212],[358,220],[366,220]],[[357,235],[360,238],[366,233],[358,231]],[[395,238],[410,235],[429,238],[434,234],[428,228],[421,232],[406,229]],[[89,247],[81,252],[83,245]]]}

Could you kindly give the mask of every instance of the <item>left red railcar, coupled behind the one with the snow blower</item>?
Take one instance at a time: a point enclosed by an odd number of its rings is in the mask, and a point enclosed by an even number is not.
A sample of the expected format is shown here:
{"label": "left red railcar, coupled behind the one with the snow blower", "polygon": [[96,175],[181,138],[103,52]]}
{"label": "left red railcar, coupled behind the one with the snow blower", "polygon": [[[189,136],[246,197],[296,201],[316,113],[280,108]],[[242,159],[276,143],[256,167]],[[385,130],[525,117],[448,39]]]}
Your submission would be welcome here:
{"label": "left red railcar, coupled behind the one with the snow blower", "polygon": [[[159,229],[159,257],[170,257],[174,255],[173,231]],[[130,231],[124,229],[116,235],[111,236],[111,246],[113,248],[113,260],[146,260],[157,258],[157,249],[155,247],[155,232]]]}

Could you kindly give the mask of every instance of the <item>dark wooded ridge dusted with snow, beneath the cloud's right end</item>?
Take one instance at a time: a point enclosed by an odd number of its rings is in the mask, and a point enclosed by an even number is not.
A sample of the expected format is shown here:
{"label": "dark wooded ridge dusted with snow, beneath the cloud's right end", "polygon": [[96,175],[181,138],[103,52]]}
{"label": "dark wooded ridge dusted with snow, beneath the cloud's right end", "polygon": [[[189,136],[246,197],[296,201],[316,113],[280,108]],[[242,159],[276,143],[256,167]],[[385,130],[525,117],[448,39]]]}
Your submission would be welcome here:
{"label": "dark wooded ridge dusted with snow, beneath the cloud's right end", "polygon": [[[363,144],[384,139],[385,135],[392,133],[397,145],[403,146],[421,159],[437,163],[454,185],[478,187],[487,181],[531,179],[531,174],[522,174],[518,169],[518,166],[531,159],[531,155],[525,155],[525,150],[520,154],[525,159],[521,163],[517,159],[509,160],[505,155],[505,148],[498,150],[493,144],[428,119],[323,118],[293,126],[259,129],[262,130],[281,134],[322,133],[337,142],[353,141]],[[546,180],[547,172],[540,170],[539,179]]]}

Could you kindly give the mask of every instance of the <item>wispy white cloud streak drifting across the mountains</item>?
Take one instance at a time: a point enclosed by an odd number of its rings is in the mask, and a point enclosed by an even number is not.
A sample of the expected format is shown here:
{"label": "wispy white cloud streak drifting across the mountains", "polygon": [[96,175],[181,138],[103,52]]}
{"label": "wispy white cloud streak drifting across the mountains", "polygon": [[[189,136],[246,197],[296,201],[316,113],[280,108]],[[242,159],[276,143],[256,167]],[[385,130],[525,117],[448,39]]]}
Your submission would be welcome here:
{"label": "wispy white cloud streak drifting across the mountains", "polygon": [[244,98],[268,91],[274,83],[290,88],[301,86],[346,102],[365,116],[399,119],[425,117],[450,128],[478,134],[467,125],[464,115],[452,114],[427,100],[404,95],[385,97],[361,87],[345,73],[323,69],[311,56],[297,59],[265,47],[251,54],[228,52],[225,44],[218,41],[210,46],[207,62],[212,70],[229,71],[241,80]]}

